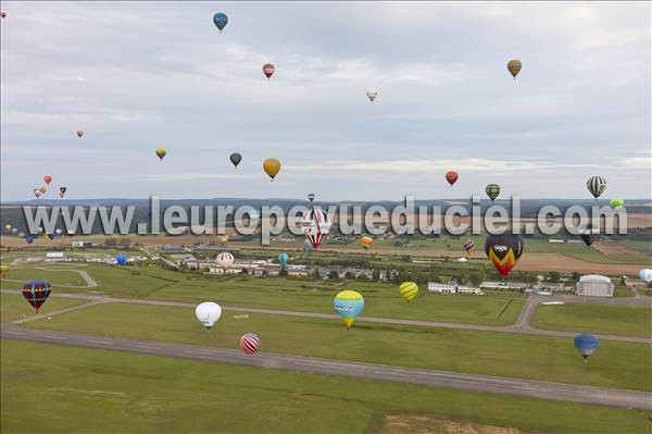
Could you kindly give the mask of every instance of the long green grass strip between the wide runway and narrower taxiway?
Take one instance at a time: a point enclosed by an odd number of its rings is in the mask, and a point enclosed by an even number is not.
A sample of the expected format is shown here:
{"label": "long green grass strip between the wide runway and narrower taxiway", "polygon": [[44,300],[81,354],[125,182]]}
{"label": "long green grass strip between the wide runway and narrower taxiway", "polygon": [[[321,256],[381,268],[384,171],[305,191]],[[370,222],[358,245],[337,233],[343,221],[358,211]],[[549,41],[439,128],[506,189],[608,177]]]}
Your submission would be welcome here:
{"label": "long green grass strip between the wide runway and narrower taxiway", "polygon": [[[225,311],[206,332],[190,308],[102,305],[34,321],[25,326],[102,336],[237,348],[247,332],[261,336],[262,350],[330,359],[466,373],[514,376],[598,386],[651,389],[649,346],[601,343],[589,363],[573,339]],[[632,362],[636,361],[636,362]]]}

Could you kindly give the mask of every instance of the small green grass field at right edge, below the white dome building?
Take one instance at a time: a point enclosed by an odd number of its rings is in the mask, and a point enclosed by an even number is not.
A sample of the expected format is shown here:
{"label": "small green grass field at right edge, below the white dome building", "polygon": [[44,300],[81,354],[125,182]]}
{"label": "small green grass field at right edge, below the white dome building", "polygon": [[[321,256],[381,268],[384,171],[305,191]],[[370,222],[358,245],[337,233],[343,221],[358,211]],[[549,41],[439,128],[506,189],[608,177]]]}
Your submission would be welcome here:
{"label": "small green grass field at right edge, below the white dome building", "polygon": [[576,303],[539,306],[531,324],[543,330],[652,337],[652,309]]}

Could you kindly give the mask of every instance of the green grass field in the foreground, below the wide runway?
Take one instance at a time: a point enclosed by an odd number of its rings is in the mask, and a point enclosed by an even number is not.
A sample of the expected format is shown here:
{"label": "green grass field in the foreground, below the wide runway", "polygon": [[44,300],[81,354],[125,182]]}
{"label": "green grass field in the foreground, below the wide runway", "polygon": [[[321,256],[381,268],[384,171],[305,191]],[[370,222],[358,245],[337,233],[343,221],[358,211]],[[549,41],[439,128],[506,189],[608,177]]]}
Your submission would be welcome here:
{"label": "green grass field in the foreground, below the wide runway", "polygon": [[5,434],[367,433],[388,412],[528,433],[650,427],[638,410],[8,339],[1,380]]}

